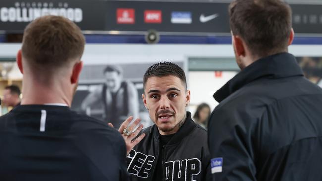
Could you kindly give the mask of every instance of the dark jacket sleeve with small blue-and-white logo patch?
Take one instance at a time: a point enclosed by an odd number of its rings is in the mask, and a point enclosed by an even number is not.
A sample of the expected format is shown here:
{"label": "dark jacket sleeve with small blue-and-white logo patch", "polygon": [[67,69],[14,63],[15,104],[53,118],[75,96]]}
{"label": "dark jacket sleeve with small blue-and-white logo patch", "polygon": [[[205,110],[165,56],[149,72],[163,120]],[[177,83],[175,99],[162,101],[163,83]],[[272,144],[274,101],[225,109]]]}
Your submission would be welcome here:
{"label": "dark jacket sleeve with small blue-and-white logo patch", "polygon": [[256,181],[252,149],[252,119],[247,113],[215,109],[208,128],[212,161],[222,158],[222,172],[211,165],[213,181]]}

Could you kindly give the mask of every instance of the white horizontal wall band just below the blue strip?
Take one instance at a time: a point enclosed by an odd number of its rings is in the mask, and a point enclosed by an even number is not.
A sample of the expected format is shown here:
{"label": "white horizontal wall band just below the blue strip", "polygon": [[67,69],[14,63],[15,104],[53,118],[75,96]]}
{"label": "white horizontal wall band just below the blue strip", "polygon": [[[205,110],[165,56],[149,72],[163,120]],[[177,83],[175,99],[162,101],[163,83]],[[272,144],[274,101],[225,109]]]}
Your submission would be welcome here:
{"label": "white horizontal wall band just below the blue strip", "polygon": [[[21,44],[0,43],[0,58],[16,56]],[[322,45],[291,45],[295,56],[322,56]],[[187,57],[234,57],[231,45],[208,44],[87,44],[84,63],[105,61],[121,63],[124,58],[135,62],[156,62]]]}

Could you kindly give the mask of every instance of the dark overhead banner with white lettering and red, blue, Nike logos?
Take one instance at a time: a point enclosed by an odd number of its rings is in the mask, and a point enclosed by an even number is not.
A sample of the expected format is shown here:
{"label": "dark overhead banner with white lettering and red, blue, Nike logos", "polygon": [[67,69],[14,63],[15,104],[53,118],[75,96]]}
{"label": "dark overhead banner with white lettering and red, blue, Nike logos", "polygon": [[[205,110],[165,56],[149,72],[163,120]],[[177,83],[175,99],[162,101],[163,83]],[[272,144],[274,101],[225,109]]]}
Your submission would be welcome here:
{"label": "dark overhead banner with white lettering and red, blue, Nike logos", "polygon": [[[127,0],[0,0],[0,31],[23,32],[44,15],[59,15],[86,33],[95,31],[230,36],[229,3]],[[290,4],[297,36],[322,36],[322,3]],[[157,9],[156,9],[157,8]],[[124,26],[126,24],[126,26]]]}

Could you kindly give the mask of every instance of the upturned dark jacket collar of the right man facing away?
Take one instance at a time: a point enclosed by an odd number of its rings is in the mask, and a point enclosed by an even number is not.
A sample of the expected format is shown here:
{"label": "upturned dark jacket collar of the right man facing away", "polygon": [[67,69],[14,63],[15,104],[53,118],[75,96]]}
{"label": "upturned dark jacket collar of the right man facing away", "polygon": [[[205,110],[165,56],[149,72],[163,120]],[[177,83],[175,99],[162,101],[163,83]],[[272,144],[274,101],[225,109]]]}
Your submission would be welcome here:
{"label": "upturned dark jacket collar of the right man facing away", "polygon": [[302,69],[295,57],[289,53],[278,53],[261,58],[244,68],[217,90],[213,97],[220,103],[241,87],[257,79],[264,77],[278,79],[292,76],[303,76]]}

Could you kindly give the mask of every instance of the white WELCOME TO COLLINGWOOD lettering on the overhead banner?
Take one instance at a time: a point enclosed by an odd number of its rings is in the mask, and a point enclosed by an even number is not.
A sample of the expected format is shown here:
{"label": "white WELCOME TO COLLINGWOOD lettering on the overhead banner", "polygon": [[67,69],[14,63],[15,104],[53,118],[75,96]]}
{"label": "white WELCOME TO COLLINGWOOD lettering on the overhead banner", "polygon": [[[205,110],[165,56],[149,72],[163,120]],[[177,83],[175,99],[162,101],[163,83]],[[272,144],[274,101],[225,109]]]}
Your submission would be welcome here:
{"label": "white WELCOME TO COLLINGWOOD lettering on the overhead banner", "polygon": [[76,23],[82,22],[83,10],[59,2],[15,2],[13,7],[1,7],[1,22],[30,22],[46,15],[63,16]]}

